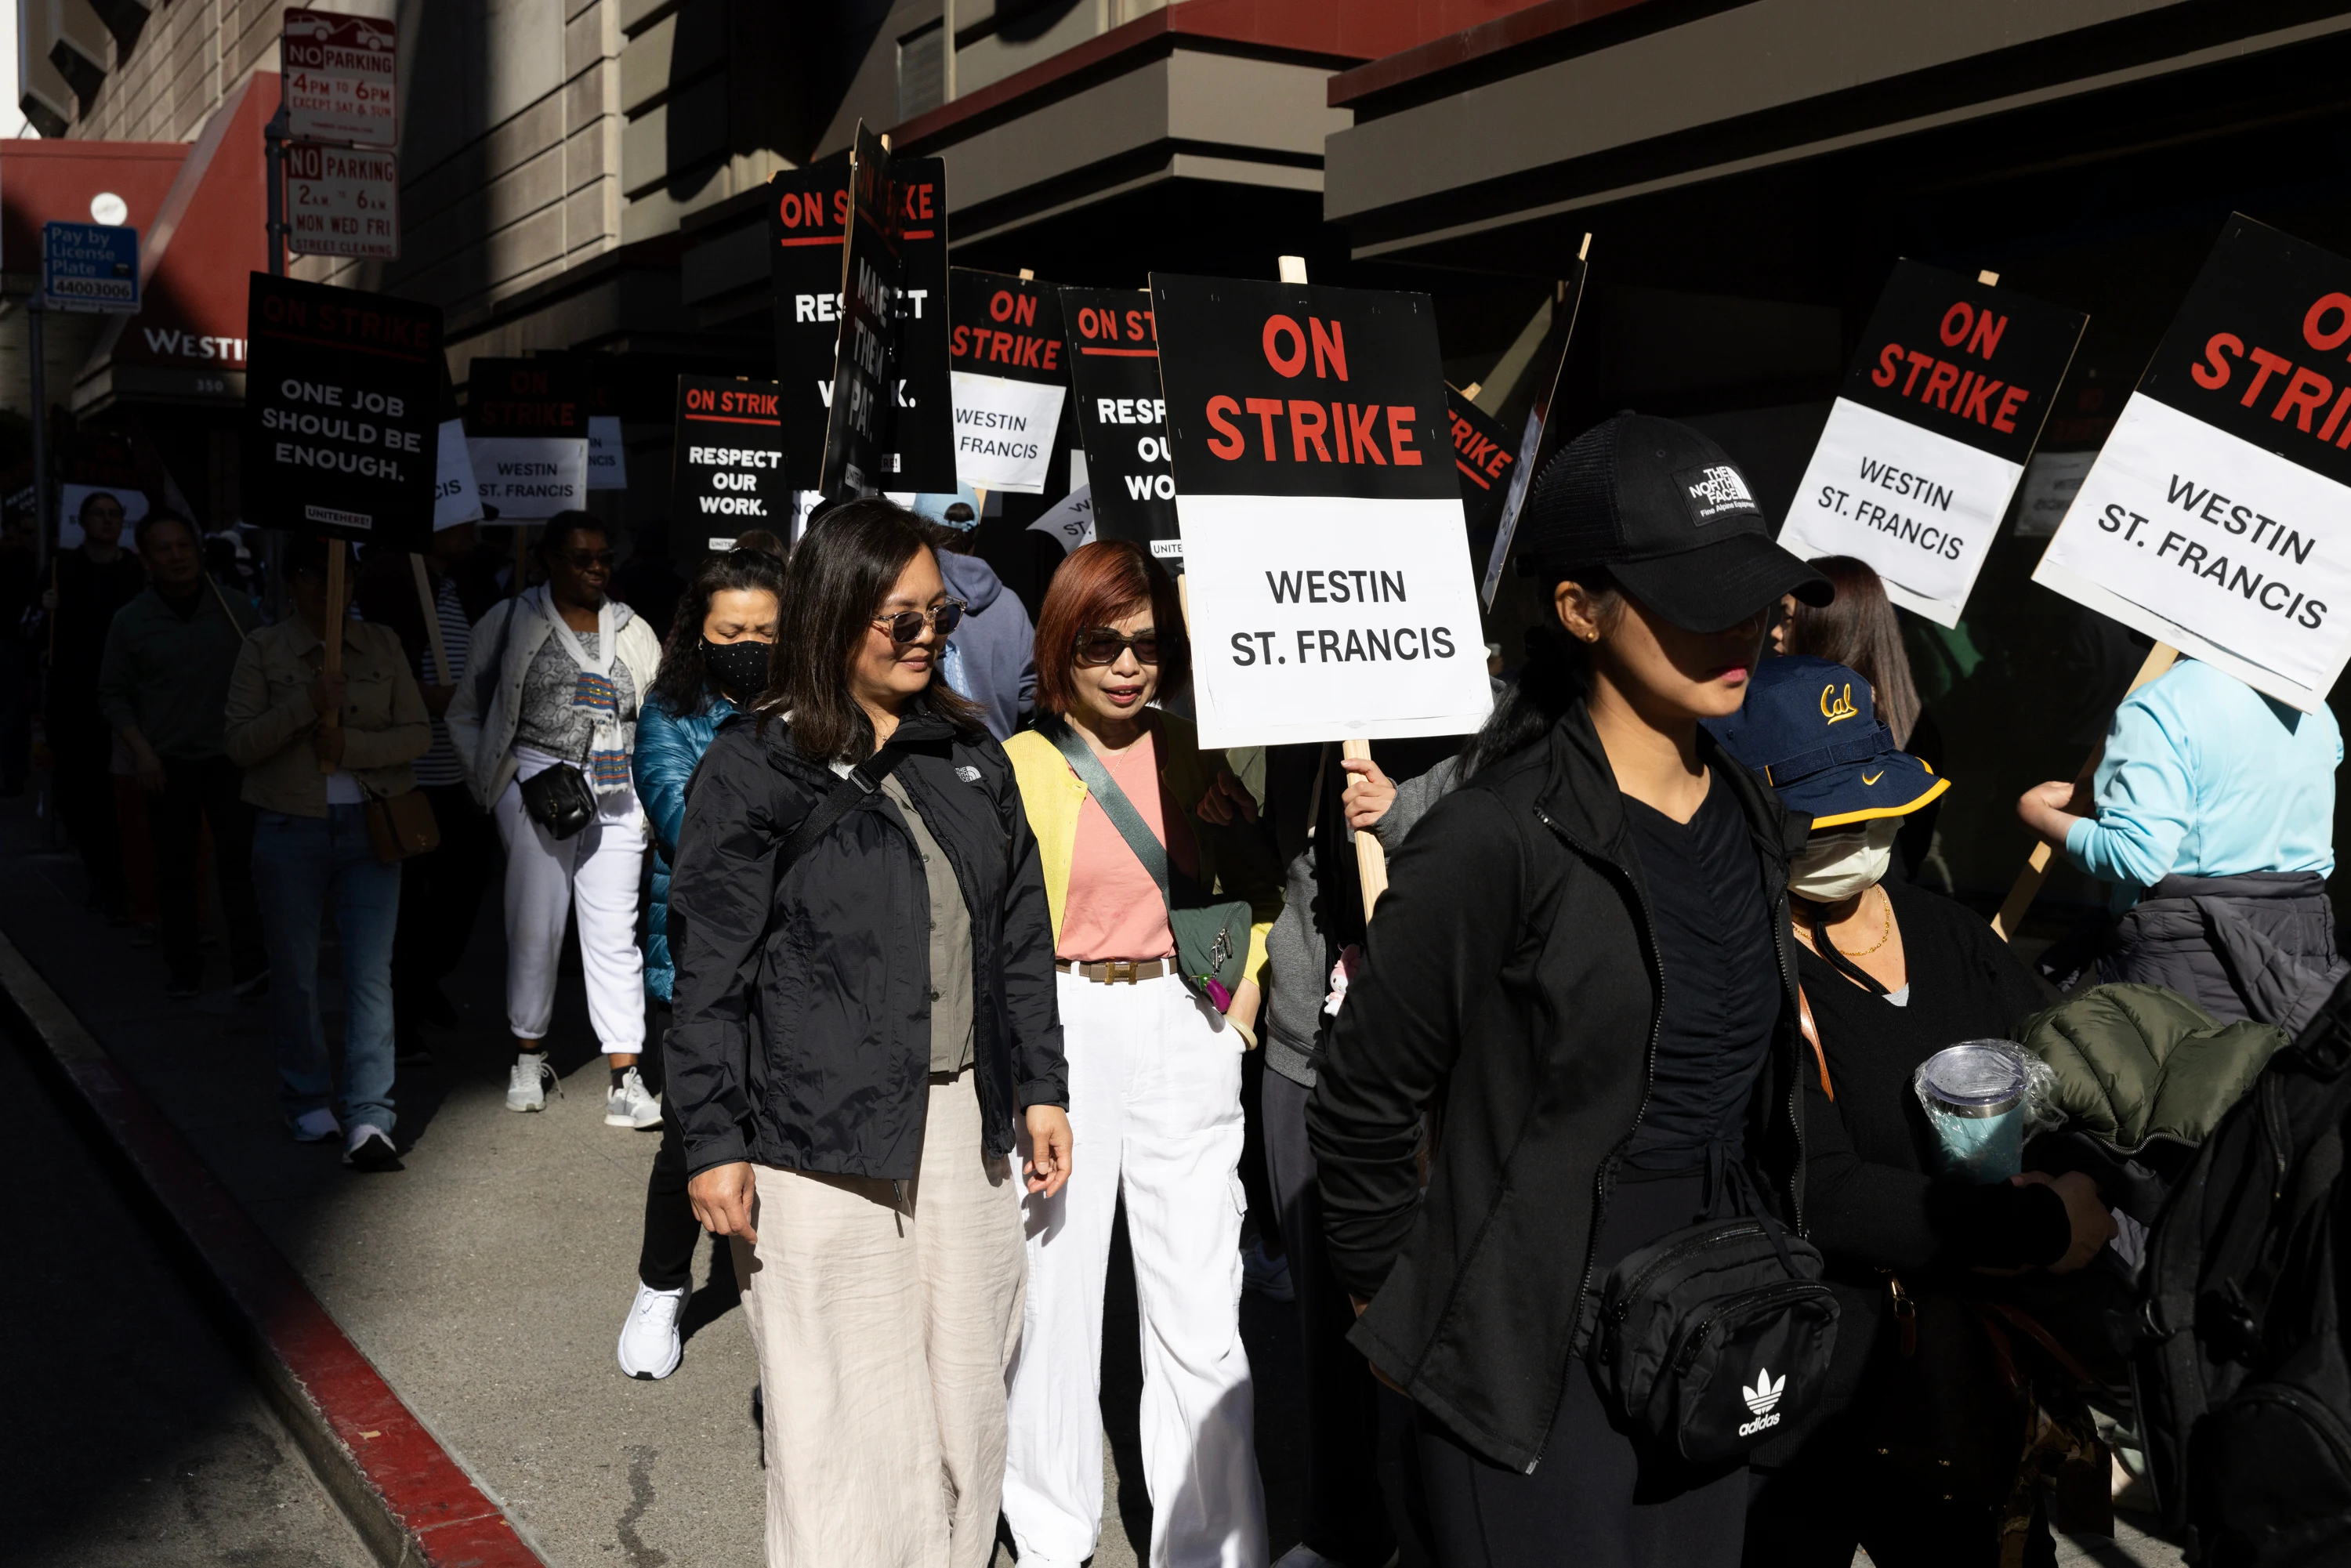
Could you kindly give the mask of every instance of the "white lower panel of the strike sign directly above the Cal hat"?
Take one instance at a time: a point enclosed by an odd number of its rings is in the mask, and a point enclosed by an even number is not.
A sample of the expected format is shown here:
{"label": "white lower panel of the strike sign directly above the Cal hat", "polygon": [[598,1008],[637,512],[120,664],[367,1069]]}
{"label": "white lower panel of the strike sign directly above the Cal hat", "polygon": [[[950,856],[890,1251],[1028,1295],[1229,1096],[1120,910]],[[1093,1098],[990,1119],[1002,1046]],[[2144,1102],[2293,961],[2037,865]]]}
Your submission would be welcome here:
{"label": "white lower panel of the strike sign directly above the Cal hat", "polygon": [[1838,397],[1780,545],[1801,559],[1864,559],[1888,599],[1958,625],[2022,475],[2008,458]]}

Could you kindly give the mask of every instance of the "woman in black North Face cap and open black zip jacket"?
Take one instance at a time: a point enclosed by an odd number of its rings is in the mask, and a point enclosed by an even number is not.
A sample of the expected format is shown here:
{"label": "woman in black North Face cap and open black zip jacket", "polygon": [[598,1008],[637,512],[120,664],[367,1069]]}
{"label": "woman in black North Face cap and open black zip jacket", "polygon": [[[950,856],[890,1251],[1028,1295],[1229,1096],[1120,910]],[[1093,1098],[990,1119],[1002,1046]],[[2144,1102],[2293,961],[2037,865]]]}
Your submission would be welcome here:
{"label": "woman in black North Face cap and open black zip jacket", "polygon": [[[1686,1462],[1603,1399],[1594,1340],[1629,1253],[1803,1222],[1803,823],[1702,719],[1737,712],[1780,595],[1829,585],[1714,442],[1632,414],[1545,468],[1521,555],[1552,621],[1394,860],[1307,1112],[1331,1262],[1415,1401],[1446,1568],[1730,1566],[1744,1458]],[[1768,1410],[1791,1368],[1735,1371]]]}

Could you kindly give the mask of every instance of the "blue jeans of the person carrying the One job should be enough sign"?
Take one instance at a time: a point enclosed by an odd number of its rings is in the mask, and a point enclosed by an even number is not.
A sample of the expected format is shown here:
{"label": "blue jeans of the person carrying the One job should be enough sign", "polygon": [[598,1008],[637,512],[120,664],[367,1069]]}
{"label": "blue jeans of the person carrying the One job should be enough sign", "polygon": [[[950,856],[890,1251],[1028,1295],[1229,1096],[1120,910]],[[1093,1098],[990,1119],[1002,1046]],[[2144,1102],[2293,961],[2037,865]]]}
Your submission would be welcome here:
{"label": "blue jeans of the person carrying the One job should be enough sign", "polygon": [[317,926],[334,898],[334,929],[343,938],[343,1126],[371,1121],[390,1133],[400,867],[376,860],[367,806],[256,813],[254,891],[270,947],[270,1037],[287,1121],[334,1100],[334,1063],[317,1018]]}

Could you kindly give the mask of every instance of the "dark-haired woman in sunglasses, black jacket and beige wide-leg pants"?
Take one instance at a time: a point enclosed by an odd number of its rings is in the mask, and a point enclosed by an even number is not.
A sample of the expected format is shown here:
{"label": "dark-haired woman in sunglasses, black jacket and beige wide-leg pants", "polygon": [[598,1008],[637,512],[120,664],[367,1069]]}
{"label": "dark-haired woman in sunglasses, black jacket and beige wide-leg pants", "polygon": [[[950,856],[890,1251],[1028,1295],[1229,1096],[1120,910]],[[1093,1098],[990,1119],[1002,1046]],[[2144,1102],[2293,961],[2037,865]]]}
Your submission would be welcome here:
{"label": "dark-haired woman in sunglasses, black jacket and beige wide-leg pants", "polygon": [[792,557],[757,719],[686,795],[668,1105],[734,1237],[766,1392],[769,1568],[980,1568],[1020,1338],[1020,1187],[1070,1173],[1053,924],[1004,748],[943,679],[915,517]]}

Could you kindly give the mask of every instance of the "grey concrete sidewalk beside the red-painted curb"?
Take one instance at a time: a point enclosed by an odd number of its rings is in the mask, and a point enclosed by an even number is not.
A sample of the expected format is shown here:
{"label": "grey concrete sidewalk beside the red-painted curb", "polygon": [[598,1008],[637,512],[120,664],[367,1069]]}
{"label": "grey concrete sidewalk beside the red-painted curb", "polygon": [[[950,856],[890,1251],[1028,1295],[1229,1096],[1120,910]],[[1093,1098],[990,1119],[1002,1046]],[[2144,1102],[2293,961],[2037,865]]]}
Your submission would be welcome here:
{"label": "grey concrete sidewalk beside the red-painted curb", "polygon": [[[42,849],[26,802],[0,802],[0,929],[42,971],[155,1105],[195,1145],[350,1340],[557,1566],[759,1563],[757,1366],[731,1276],[710,1286],[696,1260],[686,1359],[663,1382],[614,1363],[635,1291],[644,1175],[656,1135],[604,1126],[604,1058],[569,961],[550,1032],[564,1093],[543,1114],[505,1110],[496,891],[484,900],[449,994],[463,1025],[428,1034],[435,1063],[402,1067],[397,1140],[407,1168],[346,1171],[334,1150],[294,1145],[277,1114],[268,1004],[237,1004],[209,950],[207,992],[162,994],[162,959],[134,929],[82,912],[80,863]],[[329,947],[324,969],[331,971]],[[341,987],[322,987],[329,1037]],[[1140,1486],[1121,1488],[1112,1453],[1138,1474],[1136,1319],[1119,1279],[1105,1324],[1105,1521],[1098,1568],[1128,1568],[1150,1530]],[[1295,1542],[1302,1458],[1295,1389],[1279,1373],[1295,1328],[1288,1307],[1244,1298],[1260,1368],[1260,1465],[1274,1552]],[[1272,1373],[1272,1382],[1267,1380]],[[1121,1495],[1124,1493],[1124,1495]],[[999,1561],[1011,1561],[999,1552]]]}

